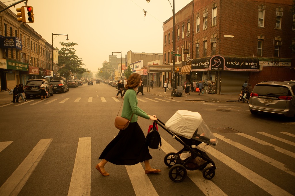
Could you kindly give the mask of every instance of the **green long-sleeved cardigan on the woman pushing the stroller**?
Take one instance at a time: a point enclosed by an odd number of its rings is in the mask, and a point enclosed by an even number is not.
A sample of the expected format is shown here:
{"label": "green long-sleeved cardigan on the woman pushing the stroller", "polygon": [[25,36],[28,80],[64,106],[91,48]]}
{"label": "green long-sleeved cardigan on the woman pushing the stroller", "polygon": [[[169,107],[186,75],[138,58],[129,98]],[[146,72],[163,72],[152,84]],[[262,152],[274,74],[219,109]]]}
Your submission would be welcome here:
{"label": "green long-sleeved cardigan on the woman pushing the stroller", "polygon": [[124,105],[122,109],[121,117],[130,119],[133,114],[133,117],[130,122],[137,122],[137,116],[150,119],[149,115],[145,113],[142,109],[137,107],[137,96],[134,89],[128,89],[124,95]]}

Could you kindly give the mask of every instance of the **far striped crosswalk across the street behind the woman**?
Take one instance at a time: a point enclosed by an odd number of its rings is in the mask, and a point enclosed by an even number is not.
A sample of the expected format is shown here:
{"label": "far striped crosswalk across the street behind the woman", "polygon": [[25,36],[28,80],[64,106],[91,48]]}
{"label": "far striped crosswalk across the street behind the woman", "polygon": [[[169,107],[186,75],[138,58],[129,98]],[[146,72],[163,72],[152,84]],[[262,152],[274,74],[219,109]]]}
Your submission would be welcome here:
{"label": "far striped crosswalk across the street behind the woman", "polygon": [[[139,102],[180,102],[180,103],[182,103],[182,101],[177,101],[177,100],[173,100],[173,99],[165,99],[165,98],[157,98],[157,97],[153,97],[153,98],[143,97],[143,98],[137,98],[137,100]],[[123,101],[122,98],[99,97],[98,95],[97,95],[97,97],[77,97],[77,98],[53,98],[53,97],[50,97],[47,100],[28,99],[26,102],[20,101],[19,103],[16,103],[16,104],[9,103],[9,104],[2,105],[0,107],[9,106],[12,104],[14,107],[18,107],[18,106],[21,106],[24,104],[36,105],[36,104],[52,104],[52,103],[63,104],[63,103],[68,103],[68,102],[78,103],[78,102],[122,102],[122,101]]]}

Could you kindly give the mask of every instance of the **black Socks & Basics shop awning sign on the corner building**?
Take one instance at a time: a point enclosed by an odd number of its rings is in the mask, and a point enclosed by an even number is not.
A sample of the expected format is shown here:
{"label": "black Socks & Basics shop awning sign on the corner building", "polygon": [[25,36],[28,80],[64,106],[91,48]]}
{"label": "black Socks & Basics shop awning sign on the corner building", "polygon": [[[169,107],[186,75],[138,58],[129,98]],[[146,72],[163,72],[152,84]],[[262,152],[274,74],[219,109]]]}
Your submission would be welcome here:
{"label": "black Socks & Basics shop awning sign on the corner building", "polygon": [[194,59],[191,65],[191,71],[250,71],[258,72],[258,58],[239,58],[239,57],[222,57],[215,55],[213,57]]}

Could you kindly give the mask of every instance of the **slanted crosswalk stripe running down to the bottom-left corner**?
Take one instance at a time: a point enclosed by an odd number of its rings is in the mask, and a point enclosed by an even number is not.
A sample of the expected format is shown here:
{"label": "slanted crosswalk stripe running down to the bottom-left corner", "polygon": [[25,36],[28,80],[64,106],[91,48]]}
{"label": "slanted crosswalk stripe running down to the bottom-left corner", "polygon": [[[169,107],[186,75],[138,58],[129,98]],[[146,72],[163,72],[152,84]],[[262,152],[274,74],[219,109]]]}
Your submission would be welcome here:
{"label": "slanted crosswalk stripe running down to the bottom-left corner", "polygon": [[40,139],[38,144],[0,187],[0,195],[18,195],[40,162],[53,139]]}

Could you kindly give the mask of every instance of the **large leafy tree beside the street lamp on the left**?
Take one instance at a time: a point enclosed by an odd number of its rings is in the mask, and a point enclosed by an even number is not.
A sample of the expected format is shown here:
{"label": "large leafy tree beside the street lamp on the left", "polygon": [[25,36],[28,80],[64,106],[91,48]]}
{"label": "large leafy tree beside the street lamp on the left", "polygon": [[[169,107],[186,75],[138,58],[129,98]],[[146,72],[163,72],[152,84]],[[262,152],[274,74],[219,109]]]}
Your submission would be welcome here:
{"label": "large leafy tree beside the street lamp on the left", "polygon": [[86,69],[81,67],[82,62],[76,55],[76,50],[74,46],[78,44],[73,42],[60,42],[60,45],[62,45],[63,47],[58,51],[58,73],[65,76],[66,81],[68,81],[70,76],[74,73],[83,74],[84,72],[86,72]]}

